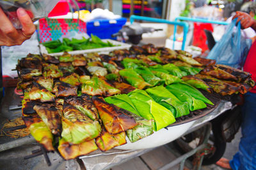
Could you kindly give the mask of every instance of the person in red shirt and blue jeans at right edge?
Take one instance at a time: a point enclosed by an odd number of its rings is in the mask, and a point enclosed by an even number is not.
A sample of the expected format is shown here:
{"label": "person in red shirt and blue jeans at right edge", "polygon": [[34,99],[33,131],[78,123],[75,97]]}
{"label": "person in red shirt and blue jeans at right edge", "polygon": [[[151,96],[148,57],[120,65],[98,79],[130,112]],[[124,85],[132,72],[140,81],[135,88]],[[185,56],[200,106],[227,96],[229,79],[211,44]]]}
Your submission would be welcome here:
{"label": "person in red shirt and blue jeans at right edge", "polygon": [[[245,12],[236,12],[233,19],[241,22],[243,29],[251,27],[256,31],[256,20]],[[256,41],[253,42],[246,61],[244,71],[252,74],[256,81]],[[227,169],[256,169],[256,86],[244,95],[242,107],[243,120],[241,125],[242,137],[239,143],[239,151],[232,160],[221,158],[216,164]]]}

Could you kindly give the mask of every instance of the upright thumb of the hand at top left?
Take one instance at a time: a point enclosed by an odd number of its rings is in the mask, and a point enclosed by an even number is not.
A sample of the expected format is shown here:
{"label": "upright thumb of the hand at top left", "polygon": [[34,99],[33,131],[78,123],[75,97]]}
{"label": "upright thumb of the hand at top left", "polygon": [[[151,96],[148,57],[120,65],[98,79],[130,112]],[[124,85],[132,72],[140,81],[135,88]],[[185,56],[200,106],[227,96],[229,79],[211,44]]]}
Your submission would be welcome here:
{"label": "upright thumb of the hand at top left", "polygon": [[30,19],[28,13],[23,8],[19,8],[17,10],[17,16],[20,20],[20,24],[22,25],[22,32],[25,37],[28,38],[28,36],[33,35],[33,33],[36,30],[35,25],[33,24],[32,20]]}

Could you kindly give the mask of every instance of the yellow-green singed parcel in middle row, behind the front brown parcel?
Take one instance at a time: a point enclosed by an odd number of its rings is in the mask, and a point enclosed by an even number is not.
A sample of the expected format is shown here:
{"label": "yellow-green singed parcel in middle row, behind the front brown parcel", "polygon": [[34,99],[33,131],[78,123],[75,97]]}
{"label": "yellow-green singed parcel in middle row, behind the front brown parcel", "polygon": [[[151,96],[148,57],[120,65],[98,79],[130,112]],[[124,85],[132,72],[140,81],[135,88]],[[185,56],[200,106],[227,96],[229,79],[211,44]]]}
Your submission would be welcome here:
{"label": "yellow-green singed parcel in middle row, behind the front brown parcel", "polygon": [[120,89],[116,89],[104,77],[93,76],[92,79],[82,84],[82,93],[91,96],[111,96],[120,93]]}

